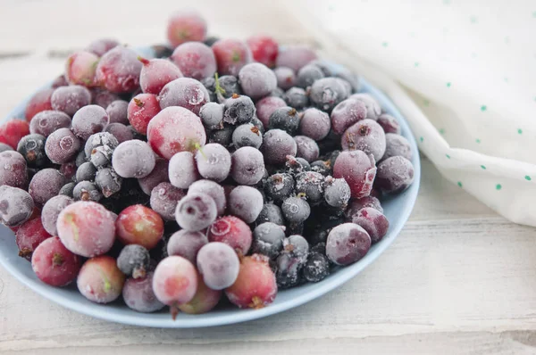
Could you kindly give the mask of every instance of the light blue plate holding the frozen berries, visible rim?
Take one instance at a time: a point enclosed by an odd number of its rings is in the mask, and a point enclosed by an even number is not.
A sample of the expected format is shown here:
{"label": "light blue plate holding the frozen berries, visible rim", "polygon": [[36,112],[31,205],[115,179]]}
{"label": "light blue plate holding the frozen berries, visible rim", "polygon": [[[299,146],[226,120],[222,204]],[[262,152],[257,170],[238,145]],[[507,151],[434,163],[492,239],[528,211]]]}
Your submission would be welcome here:
{"label": "light blue plate holding the frozen berries, visible rim", "polygon": [[[6,227],[0,228],[0,264],[2,264],[13,277],[20,280],[22,284],[27,285],[33,291],[63,307],[76,310],[77,312],[91,317],[134,326],[155,326],[163,328],[222,326],[271,316],[284,310],[297,307],[307,301],[312,301],[315,298],[322,296],[322,294],[334,290],[352,277],[356,277],[357,274],[370,265],[373,260],[376,260],[376,258],[378,258],[380,254],[393,243],[413,210],[417,192],[419,190],[421,181],[421,163],[419,161],[419,153],[417,144],[415,143],[415,137],[407,126],[406,120],[404,120],[397,108],[385,95],[383,95],[383,93],[381,93],[380,90],[372,87],[364,79],[361,80],[361,84],[362,92],[373,95],[381,103],[384,111],[389,112],[389,114],[398,119],[398,122],[402,127],[402,135],[407,138],[414,153],[413,164],[415,167],[415,182],[404,193],[398,194],[397,196],[382,202],[385,215],[390,222],[388,235],[386,235],[380,243],[373,245],[370,252],[368,252],[362,260],[359,260],[347,268],[340,268],[320,283],[302,285],[297,288],[281,291],[270,306],[261,310],[239,310],[227,306],[202,315],[192,316],[180,314],[177,319],[173,321],[167,312],[162,311],[152,314],[138,313],[134,310],[130,310],[122,303],[122,301],[117,301],[108,305],[93,303],[85,299],[77,291],[74,285],[66,288],[55,288],[41,283],[38,280],[38,277],[33,273],[29,262],[17,255],[18,249],[15,244],[15,238],[13,233]],[[24,117],[24,108],[26,107],[28,100],[15,108],[5,120]]]}

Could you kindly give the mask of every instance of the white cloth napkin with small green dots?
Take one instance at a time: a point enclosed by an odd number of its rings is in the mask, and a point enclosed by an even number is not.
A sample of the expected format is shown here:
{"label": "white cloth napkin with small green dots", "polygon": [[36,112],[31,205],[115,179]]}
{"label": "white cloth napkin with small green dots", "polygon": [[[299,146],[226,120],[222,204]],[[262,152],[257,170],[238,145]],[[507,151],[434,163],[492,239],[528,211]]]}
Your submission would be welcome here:
{"label": "white cloth napkin with small green dots", "polygon": [[536,226],[534,2],[281,4],[326,56],[390,96],[443,176],[507,219]]}

